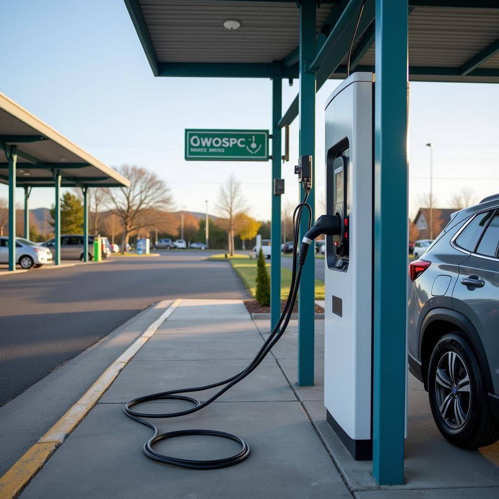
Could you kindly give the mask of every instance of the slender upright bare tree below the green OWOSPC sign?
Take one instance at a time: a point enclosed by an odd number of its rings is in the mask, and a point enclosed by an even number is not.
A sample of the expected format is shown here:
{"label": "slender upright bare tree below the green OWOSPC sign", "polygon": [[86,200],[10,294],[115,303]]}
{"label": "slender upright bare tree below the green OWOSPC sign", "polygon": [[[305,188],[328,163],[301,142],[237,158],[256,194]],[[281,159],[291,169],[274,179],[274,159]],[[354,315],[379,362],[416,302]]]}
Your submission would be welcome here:
{"label": "slender upright bare tree below the green OWOSPC sign", "polygon": [[238,215],[248,211],[246,200],[241,192],[241,183],[231,175],[220,188],[217,211],[220,215],[218,224],[227,231],[228,250],[234,255],[234,235],[238,231]]}

